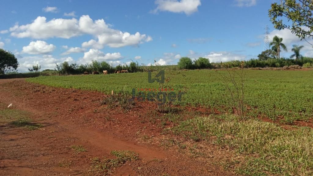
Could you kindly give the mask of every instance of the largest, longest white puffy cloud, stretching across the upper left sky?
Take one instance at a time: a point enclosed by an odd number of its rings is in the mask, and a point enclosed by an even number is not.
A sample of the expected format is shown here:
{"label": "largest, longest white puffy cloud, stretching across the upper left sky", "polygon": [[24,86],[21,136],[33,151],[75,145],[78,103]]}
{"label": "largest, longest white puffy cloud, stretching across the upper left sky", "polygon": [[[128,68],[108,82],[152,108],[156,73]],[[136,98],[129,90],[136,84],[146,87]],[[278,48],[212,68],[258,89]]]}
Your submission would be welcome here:
{"label": "largest, longest white puffy cloud, stretching across the upper left sky", "polygon": [[47,38],[64,38],[69,39],[71,37],[80,36],[83,34],[90,34],[98,38],[98,41],[91,39],[88,42],[84,42],[82,47],[102,49],[105,45],[113,48],[123,46],[138,46],[143,42],[149,42],[152,40],[150,36],[146,34],[130,34],[128,32],[122,32],[110,28],[109,24],[106,24],[104,19],[98,19],[93,21],[89,15],[83,15],[79,20],[72,19],[52,19],[46,21],[45,17],[37,17],[33,23],[21,25],[15,24],[10,28],[11,36],[18,38],[30,37],[33,39],[47,39]]}

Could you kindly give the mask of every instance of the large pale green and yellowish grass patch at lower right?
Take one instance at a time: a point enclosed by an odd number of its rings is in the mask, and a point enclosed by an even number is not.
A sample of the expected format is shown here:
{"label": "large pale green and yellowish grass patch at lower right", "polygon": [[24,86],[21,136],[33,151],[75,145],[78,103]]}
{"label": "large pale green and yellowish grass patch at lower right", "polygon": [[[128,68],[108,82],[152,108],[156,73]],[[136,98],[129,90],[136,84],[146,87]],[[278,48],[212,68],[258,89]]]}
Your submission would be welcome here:
{"label": "large pale green and yellowish grass patch at lower right", "polygon": [[[197,116],[173,127],[176,134],[229,146],[246,157],[236,168],[245,175],[313,175],[313,129],[285,130],[233,115]],[[255,157],[255,154],[258,157]],[[236,161],[235,161],[236,162]]]}

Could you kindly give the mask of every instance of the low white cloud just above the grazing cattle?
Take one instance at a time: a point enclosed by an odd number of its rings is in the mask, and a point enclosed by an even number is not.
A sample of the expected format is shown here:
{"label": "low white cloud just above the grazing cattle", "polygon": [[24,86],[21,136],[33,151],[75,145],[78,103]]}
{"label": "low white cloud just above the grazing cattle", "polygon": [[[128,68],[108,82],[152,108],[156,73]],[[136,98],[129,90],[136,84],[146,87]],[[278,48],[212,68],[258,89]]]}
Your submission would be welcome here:
{"label": "low white cloud just above the grazing cattle", "polygon": [[91,60],[106,61],[106,60],[119,60],[122,59],[120,53],[103,53],[98,49],[89,49],[84,53],[84,57],[80,59],[80,63],[90,63]]}

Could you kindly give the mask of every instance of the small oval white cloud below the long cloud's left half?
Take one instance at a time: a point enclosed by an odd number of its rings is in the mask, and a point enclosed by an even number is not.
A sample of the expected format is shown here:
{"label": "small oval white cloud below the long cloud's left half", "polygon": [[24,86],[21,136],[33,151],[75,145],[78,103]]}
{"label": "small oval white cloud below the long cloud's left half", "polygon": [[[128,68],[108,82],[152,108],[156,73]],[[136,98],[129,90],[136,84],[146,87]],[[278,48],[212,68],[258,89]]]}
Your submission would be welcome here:
{"label": "small oval white cloud below the long cloud's left half", "polygon": [[36,42],[30,42],[28,46],[24,46],[22,52],[27,54],[49,54],[54,49],[53,44],[37,40]]}

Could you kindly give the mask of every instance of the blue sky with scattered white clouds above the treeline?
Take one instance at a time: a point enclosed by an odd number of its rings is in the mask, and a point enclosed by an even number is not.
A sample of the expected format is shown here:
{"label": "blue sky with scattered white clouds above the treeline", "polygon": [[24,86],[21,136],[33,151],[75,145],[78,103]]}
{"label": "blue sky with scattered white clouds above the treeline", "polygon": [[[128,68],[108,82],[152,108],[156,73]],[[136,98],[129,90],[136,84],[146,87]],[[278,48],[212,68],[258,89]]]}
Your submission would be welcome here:
{"label": "blue sky with scattered white clouds above the treeline", "polygon": [[[176,64],[180,57],[248,60],[263,51],[264,27],[291,51],[304,44],[273,29],[274,0],[2,1],[0,48],[13,52],[19,72],[32,65],[105,60]],[[305,45],[305,44],[304,44]],[[305,45],[304,55],[313,56]],[[290,52],[281,55],[290,56]]]}

